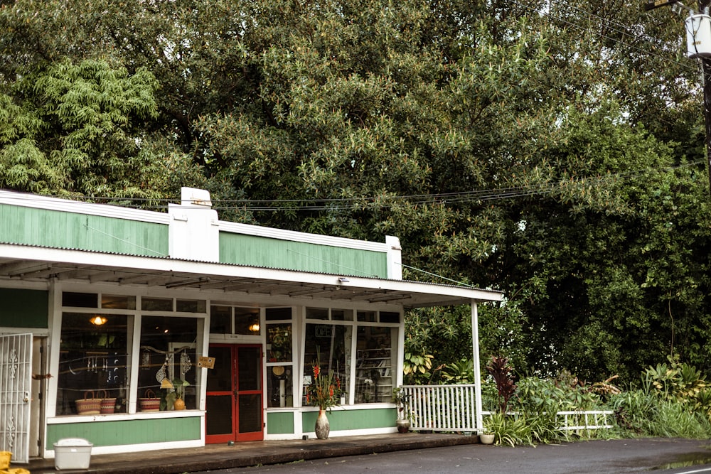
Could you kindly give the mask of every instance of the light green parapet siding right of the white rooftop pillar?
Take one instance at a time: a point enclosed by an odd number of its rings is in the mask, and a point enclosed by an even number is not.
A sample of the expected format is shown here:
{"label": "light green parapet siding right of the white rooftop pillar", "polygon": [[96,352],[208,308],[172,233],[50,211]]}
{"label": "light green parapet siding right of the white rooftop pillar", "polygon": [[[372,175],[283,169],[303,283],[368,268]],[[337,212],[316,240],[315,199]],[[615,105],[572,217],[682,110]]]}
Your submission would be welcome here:
{"label": "light green parapet siding right of the white rooftop pillar", "polygon": [[387,254],[220,232],[220,263],[387,278]]}

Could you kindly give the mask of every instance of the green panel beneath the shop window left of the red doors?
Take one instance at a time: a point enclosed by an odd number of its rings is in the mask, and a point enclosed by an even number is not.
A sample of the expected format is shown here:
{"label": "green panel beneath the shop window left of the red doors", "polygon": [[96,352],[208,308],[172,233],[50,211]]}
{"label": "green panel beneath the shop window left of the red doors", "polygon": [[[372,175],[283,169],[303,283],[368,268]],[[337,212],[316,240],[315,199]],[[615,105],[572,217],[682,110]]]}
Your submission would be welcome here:
{"label": "green panel beneath the shop window left of the red doors", "polygon": [[47,449],[62,438],[85,438],[94,446],[166,443],[200,439],[200,416],[188,418],[91,421],[47,425]]}

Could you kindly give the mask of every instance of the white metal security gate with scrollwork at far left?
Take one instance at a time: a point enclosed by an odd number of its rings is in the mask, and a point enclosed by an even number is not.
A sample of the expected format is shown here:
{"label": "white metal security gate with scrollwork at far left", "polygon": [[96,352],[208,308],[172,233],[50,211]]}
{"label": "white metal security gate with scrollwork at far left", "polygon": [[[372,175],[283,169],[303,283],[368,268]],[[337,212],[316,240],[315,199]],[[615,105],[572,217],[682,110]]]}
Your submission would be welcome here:
{"label": "white metal security gate with scrollwork at far left", "polygon": [[18,463],[30,457],[32,335],[0,335],[0,451]]}

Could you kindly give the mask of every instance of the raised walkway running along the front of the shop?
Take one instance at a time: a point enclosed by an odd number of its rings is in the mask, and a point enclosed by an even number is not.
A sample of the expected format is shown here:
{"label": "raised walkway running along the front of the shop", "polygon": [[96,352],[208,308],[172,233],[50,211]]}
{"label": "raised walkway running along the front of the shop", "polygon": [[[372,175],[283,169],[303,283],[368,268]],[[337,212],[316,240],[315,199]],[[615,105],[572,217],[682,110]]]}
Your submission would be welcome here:
{"label": "raised walkway running along the front of the shop", "polygon": [[296,460],[357,456],[408,449],[439,448],[479,443],[476,435],[462,436],[439,433],[393,433],[373,436],[348,436],[327,440],[248,441],[208,445],[203,448],[142,451],[140,453],[103,454],[91,457],[88,470],[61,470],[53,459],[31,460],[26,468],[32,474],[100,473],[100,474],[181,474],[201,470],[245,468],[253,465],[290,463]]}

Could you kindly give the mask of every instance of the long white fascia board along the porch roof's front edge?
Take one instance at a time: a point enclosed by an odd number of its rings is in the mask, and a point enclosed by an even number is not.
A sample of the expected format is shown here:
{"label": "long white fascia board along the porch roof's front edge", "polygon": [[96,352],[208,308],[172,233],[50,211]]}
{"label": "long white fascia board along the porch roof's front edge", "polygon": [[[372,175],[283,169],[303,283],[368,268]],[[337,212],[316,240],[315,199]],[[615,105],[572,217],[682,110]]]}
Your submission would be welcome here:
{"label": "long white fascia board along the porch roof's front edge", "polygon": [[137,257],[132,255],[102,254],[71,249],[51,249],[46,247],[18,246],[0,244],[0,257],[11,259],[38,260],[65,264],[109,266],[121,269],[144,271],[165,271],[192,273],[196,276],[224,276],[227,278],[253,278],[298,283],[341,286],[343,289],[387,290],[407,293],[435,294],[451,296],[451,299],[466,298],[477,301],[502,301],[503,293],[492,290],[467,288],[464,286],[446,286],[420,283],[417,281],[383,280],[348,276],[348,281],[341,283],[339,276],[317,274],[306,271],[269,269],[257,266],[216,264],[210,262],[191,262],[188,260]]}

